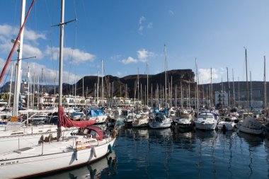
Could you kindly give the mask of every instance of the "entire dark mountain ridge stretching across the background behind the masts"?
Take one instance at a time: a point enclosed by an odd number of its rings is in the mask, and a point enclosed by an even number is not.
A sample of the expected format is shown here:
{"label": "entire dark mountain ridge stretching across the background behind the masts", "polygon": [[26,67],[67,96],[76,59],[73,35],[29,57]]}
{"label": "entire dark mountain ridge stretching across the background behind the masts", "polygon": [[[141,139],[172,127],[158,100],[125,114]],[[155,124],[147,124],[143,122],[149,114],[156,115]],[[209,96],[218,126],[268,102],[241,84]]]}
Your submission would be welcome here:
{"label": "entire dark mountain ridge stretching across the background behind the masts", "polygon": [[[135,88],[137,86],[137,79],[138,76],[137,74],[135,75],[128,75],[124,76],[122,78],[119,78],[117,76],[111,76],[107,75],[103,77],[103,88],[104,88],[104,97],[105,98],[110,98],[111,96],[117,96],[117,97],[125,97],[127,98],[137,98],[137,93],[138,89]],[[167,71],[167,91],[166,93],[168,94],[168,86],[171,86],[171,81],[172,81],[172,93],[173,96],[175,93],[175,87],[177,86],[177,96],[178,98],[181,97],[181,83],[182,83],[182,88],[183,88],[183,96],[187,98],[188,96],[188,88],[189,88],[189,83],[190,83],[190,97],[194,98],[195,97],[195,88],[196,88],[196,83],[195,83],[195,74],[191,69],[174,69]],[[84,81],[84,82],[83,82]],[[102,78],[99,77],[99,97],[101,97],[101,81]],[[156,89],[157,87],[159,88],[159,94],[161,93],[161,88],[162,91],[164,89],[164,82],[165,81],[165,73],[159,73],[159,74],[150,74],[149,75],[149,96],[151,96],[151,86],[152,86],[152,96],[155,98],[156,94]],[[84,85],[83,85],[84,83]],[[80,79],[77,81],[76,84],[68,84],[68,83],[63,83],[63,94],[64,95],[74,95],[74,91],[76,88],[76,95],[77,96],[97,96],[96,91],[97,91],[97,83],[98,83],[98,77],[97,76],[84,76],[84,79]],[[84,93],[83,93],[83,86],[84,86]],[[127,86],[127,88],[126,88]],[[142,90],[141,90],[142,86]],[[268,83],[267,83],[268,86]],[[21,84],[21,89],[22,91],[25,91],[24,84]],[[35,86],[35,90],[37,90],[38,86]],[[55,87],[53,85],[43,85],[42,91],[50,94],[55,93]],[[143,94],[143,97],[145,96],[145,91],[147,88],[147,74],[139,74],[139,98],[141,98],[141,91]],[[229,87],[228,83],[213,83],[212,84],[213,88],[213,93],[214,91],[228,91],[229,90],[229,95],[230,98],[233,98],[235,95],[236,100],[246,100],[247,97],[247,91],[246,91],[246,82],[245,81],[236,81],[234,82],[234,88],[233,88],[233,82],[229,82]],[[249,99],[251,99],[251,94],[253,100],[263,100],[263,81],[248,81],[248,88],[249,88]],[[250,90],[252,89],[252,90]],[[9,82],[5,83],[4,86],[1,88],[2,92],[8,92],[9,91]],[[14,91],[14,83],[12,83],[12,90]],[[40,85],[40,91],[41,91],[41,85]],[[56,93],[58,91],[58,87],[56,86]],[[113,91],[113,93],[112,93]],[[200,97],[202,98],[202,91],[204,91],[204,96],[206,94],[209,94],[210,92],[210,84],[202,84],[199,85],[199,91],[200,91]],[[252,91],[252,93],[251,93]],[[233,93],[234,92],[234,93]],[[269,88],[267,87],[267,94],[269,94]],[[160,95],[159,95],[160,97]],[[150,98],[150,97],[149,97]],[[267,101],[269,101],[269,95],[267,98]]]}

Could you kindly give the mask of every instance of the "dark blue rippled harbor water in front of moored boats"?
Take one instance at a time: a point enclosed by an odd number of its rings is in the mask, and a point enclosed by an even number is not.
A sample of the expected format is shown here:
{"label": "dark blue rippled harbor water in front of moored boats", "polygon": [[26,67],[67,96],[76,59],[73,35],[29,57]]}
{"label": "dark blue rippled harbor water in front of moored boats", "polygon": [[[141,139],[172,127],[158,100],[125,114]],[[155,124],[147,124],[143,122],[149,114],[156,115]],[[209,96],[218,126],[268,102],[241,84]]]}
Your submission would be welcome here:
{"label": "dark blue rippled harbor water in front of moored boats", "polygon": [[112,154],[40,178],[269,178],[269,137],[122,127]]}

